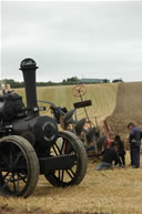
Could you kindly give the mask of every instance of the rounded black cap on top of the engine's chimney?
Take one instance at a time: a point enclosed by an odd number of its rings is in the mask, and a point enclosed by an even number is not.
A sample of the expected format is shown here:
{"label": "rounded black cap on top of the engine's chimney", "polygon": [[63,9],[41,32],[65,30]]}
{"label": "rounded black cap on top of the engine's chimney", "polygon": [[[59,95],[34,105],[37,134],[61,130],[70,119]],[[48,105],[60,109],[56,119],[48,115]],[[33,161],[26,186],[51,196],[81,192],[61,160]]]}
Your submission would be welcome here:
{"label": "rounded black cap on top of the engine's chimney", "polygon": [[24,69],[38,69],[36,61],[31,58],[22,60],[20,64],[20,70]]}

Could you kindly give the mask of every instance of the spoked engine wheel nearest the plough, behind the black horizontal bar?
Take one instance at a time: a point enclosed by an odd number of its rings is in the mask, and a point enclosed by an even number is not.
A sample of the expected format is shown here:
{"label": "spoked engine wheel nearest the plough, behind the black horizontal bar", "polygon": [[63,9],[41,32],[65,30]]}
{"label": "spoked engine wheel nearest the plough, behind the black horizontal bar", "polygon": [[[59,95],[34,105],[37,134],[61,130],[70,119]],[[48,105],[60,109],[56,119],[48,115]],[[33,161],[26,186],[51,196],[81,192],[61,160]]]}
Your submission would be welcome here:
{"label": "spoked engine wheel nearest the plough, behind the black horizontal bar", "polygon": [[88,156],[83,143],[69,131],[60,131],[51,147],[51,155],[63,154],[74,154],[74,165],[71,169],[55,170],[44,176],[53,186],[78,185],[85,175]]}

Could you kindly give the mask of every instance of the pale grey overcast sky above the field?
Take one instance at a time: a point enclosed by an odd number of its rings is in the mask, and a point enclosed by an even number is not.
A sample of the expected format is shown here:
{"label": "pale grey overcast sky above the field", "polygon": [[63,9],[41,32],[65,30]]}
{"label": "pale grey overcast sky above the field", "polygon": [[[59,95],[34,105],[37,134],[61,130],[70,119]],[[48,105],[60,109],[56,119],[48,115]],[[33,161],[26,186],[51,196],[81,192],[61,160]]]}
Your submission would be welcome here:
{"label": "pale grey overcast sky above the field", "polygon": [[22,81],[93,78],[142,81],[142,1],[2,1],[1,77]]}

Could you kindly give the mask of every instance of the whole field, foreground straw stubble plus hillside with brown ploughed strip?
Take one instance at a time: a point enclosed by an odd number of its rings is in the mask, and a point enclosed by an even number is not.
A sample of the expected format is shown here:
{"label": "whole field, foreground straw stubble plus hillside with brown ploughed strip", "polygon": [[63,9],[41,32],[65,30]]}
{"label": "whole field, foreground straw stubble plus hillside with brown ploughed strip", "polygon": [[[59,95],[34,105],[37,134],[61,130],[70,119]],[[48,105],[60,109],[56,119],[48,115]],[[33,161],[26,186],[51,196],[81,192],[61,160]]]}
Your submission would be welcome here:
{"label": "whole field, foreground straw stubble plus hillside with brown ploughed strip", "polygon": [[[80,101],[71,91],[72,86],[39,88],[38,100],[70,110],[73,102]],[[90,119],[94,122],[97,116],[100,129],[105,119],[112,136],[120,134],[128,147],[126,124],[134,121],[142,128],[142,82],[87,85],[87,91],[83,100],[92,100],[92,106],[87,108]],[[23,90],[17,92],[24,98]],[[84,116],[83,110],[78,111],[79,118]],[[50,115],[49,105],[45,114]],[[141,169],[132,169],[129,163],[129,151],[125,169],[99,172],[97,163],[89,160],[82,183],[67,188],[51,186],[40,176],[34,193],[27,200],[0,197],[0,214],[142,214],[142,154]]]}

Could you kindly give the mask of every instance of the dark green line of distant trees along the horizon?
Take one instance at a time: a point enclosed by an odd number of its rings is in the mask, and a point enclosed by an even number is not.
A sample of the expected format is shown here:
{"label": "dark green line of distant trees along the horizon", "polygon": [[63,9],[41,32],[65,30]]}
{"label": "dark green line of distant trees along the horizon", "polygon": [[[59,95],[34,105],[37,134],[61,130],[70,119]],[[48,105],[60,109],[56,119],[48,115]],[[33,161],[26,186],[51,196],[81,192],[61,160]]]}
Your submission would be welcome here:
{"label": "dark green line of distant trees along the horizon", "polygon": [[[24,82],[18,82],[14,81],[12,79],[4,79],[4,80],[0,80],[0,85],[4,83],[4,84],[10,84],[10,86],[12,89],[18,89],[18,88],[23,88],[24,86]],[[80,79],[78,79],[77,77],[72,77],[72,78],[68,78],[67,80],[64,79],[62,82],[37,82],[36,83],[37,86],[50,86],[50,85],[71,85],[71,84],[82,84],[82,82],[80,81]],[[89,82],[88,84],[91,84],[91,82]]]}

